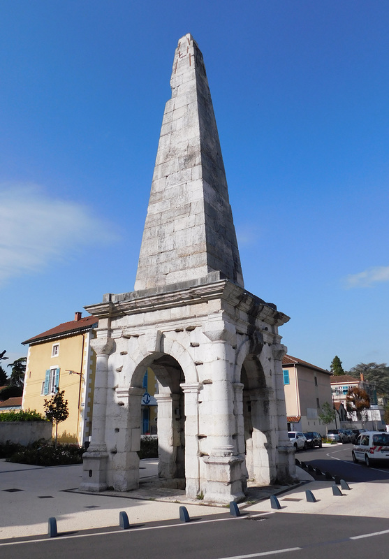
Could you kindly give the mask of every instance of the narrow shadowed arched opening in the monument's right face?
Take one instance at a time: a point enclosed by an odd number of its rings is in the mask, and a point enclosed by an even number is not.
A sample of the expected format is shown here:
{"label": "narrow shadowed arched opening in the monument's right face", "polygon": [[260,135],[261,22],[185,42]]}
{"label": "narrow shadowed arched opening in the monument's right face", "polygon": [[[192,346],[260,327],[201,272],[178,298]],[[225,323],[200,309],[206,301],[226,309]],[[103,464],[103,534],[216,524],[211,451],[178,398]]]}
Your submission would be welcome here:
{"label": "narrow shadowed arched opening in the monument's right face", "polygon": [[244,448],[247,478],[256,484],[270,483],[271,445],[269,393],[265,373],[256,355],[248,355],[242,365]]}

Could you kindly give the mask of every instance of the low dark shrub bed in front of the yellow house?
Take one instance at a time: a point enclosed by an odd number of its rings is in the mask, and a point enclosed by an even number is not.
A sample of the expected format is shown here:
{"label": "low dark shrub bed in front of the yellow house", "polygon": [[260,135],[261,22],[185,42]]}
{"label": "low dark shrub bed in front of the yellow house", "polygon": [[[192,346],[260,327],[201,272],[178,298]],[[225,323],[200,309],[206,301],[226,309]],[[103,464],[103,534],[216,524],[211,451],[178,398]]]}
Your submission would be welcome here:
{"label": "low dark shrub bed in front of the yellow house", "polygon": [[17,451],[7,461],[36,466],[82,464],[84,452],[85,449],[78,444],[57,444],[56,447],[54,442],[38,441]]}

